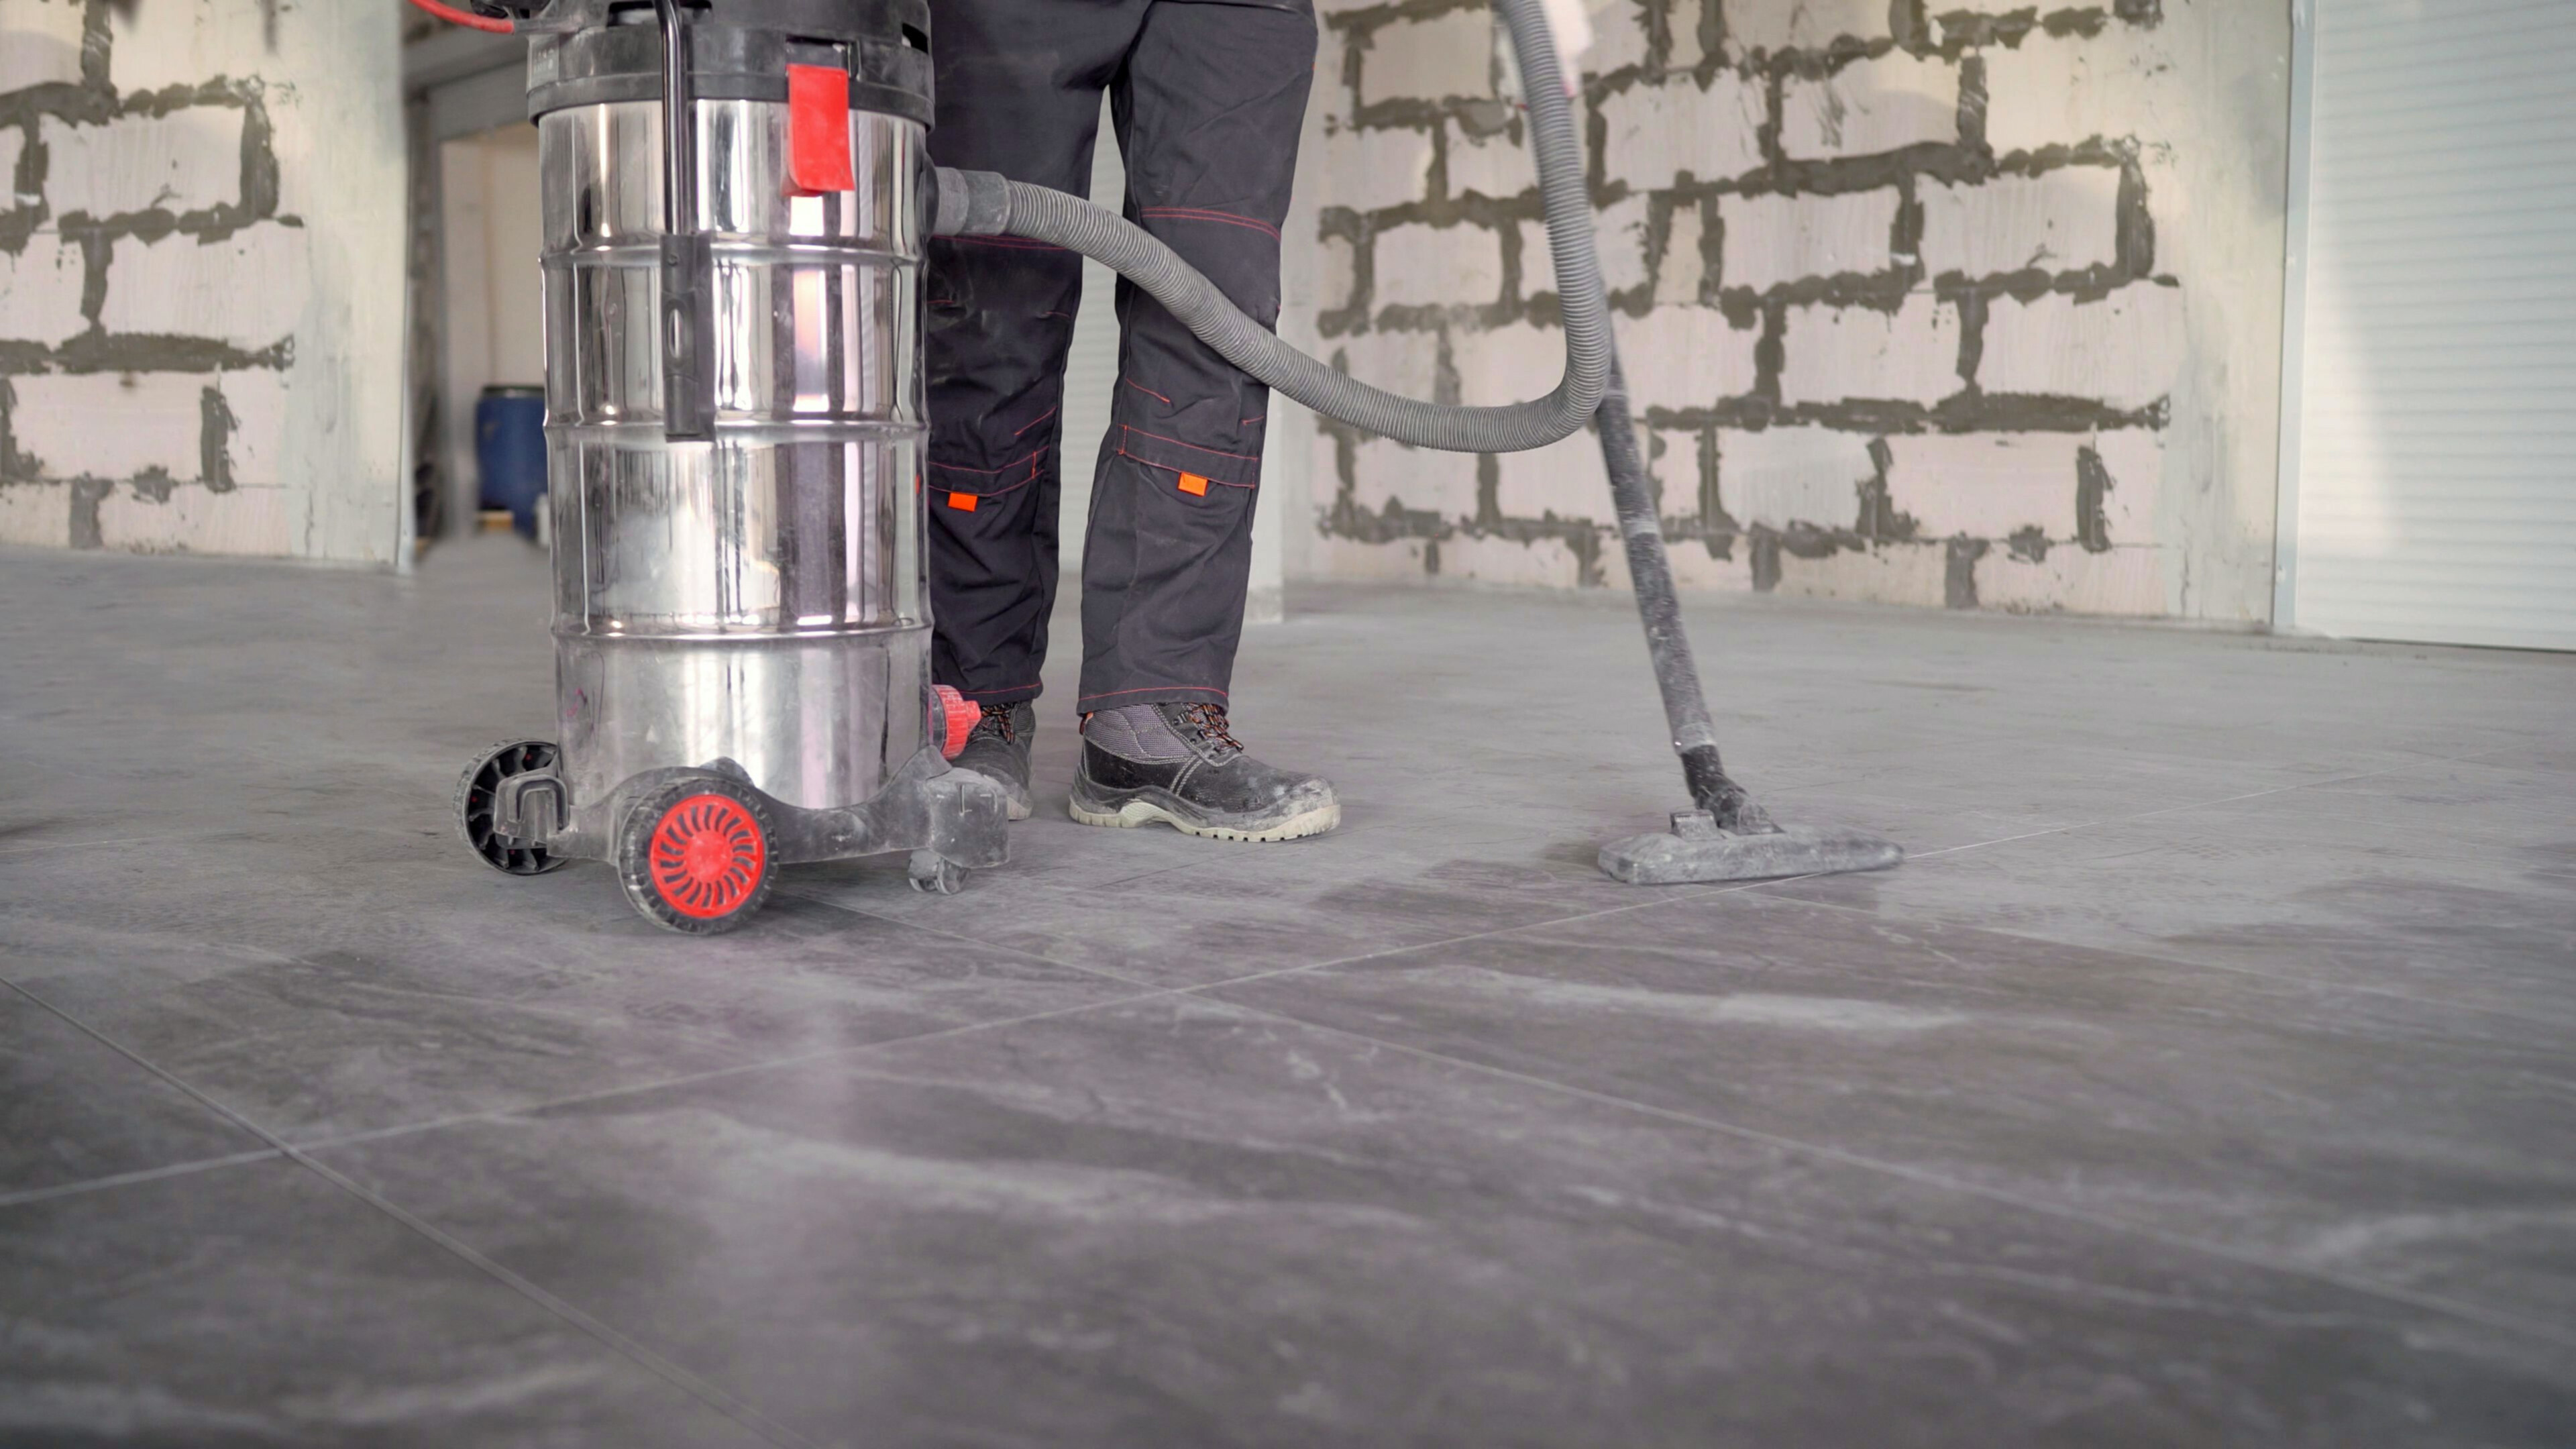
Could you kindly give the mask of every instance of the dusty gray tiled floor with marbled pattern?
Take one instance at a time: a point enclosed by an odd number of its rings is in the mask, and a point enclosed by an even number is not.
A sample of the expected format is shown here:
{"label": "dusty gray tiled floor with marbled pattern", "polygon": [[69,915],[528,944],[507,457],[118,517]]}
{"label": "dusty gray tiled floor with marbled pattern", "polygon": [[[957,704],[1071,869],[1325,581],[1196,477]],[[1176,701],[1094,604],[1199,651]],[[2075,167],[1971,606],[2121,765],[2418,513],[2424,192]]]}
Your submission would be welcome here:
{"label": "dusty gray tiled floor with marbled pattern", "polygon": [[451,838],[515,544],[0,554],[0,1444],[2576,1444],[2576,660],[1716,601],[1917,859],[1641,892],[1623,601],[1296,603],[1342,835],[1059,688],[1010,869],[688,941]]}

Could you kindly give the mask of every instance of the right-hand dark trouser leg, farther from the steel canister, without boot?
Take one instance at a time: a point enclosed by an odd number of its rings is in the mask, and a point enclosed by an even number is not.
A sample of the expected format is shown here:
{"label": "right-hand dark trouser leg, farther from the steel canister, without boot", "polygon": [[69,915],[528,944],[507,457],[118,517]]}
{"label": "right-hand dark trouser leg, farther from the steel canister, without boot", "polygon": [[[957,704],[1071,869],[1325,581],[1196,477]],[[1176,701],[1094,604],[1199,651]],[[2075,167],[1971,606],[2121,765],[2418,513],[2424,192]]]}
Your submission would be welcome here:
{"label": "right-hand dark trouser leg, farther from the steel canister, without boot", "polygon": [[[1280,307],[1314,13],[1154,0],[1113,116],[1131,222],[1260,322]],[[1082,552],[1082,704],[1224,704],[1252,578],[1270,389],[1118,286],[1121,379]]]}

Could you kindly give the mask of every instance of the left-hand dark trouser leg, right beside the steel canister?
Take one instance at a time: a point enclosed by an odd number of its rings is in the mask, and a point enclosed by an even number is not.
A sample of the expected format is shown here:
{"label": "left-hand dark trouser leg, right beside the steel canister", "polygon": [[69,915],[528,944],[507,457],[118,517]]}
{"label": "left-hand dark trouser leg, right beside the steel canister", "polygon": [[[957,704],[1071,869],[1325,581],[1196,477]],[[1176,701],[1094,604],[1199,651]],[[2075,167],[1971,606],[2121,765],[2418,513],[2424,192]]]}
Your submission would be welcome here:
{"label": "left-hand dark trouser leg, right beside the steel canister", "polygon": [[[1100,90],[1144,13],[1146,0],[940,0],[930,155],[1087,193]],[[1056,598],[1064,353],[1082,258],[1015,237],[940,237],[925,286],[933,668],[979,704],[1015,704],[1038,696]]]}

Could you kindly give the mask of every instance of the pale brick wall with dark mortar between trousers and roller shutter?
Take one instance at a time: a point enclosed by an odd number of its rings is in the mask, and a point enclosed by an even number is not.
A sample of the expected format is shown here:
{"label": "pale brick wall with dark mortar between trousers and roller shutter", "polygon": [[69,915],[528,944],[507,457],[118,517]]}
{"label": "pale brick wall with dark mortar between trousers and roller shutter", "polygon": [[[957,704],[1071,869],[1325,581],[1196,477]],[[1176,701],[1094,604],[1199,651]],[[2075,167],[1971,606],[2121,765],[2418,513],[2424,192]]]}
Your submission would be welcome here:
{"label": "pale brick wall with dark mortar between trousers and roller shutter", "polygon": [[[2045,10],[2045,15],[2043,15]],[[1327,0],[1293,302],[1370,382],[1561,364],[1481,0]],[[2287,5],[1607,0],[1602,250],[1685,585],[2269,614]],[[1319,425],[1316,575],[1623,585],[1595,438]]]}

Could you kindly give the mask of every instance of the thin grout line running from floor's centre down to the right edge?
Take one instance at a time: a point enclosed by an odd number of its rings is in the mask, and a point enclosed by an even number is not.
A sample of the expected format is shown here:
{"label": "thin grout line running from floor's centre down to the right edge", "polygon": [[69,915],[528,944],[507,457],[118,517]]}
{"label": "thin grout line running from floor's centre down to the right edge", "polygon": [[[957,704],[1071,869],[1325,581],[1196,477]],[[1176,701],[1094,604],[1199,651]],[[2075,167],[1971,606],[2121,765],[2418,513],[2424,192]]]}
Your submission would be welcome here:
{"label": "thin grout line running from floor's centre down to the right edge", "polygon": [[2107,1230],[2107,1232],[2128,1232],[2128,1235],[2136,1235],[2136,1238],[2148,1238],[2154,1243],[2164,1243],[2166,1248],[2182,1248],[2182,1250],[2192,1250],[2192,1253],[2205,1253],[2205,1256],[2213,1256],[2213,1258],[2223,1258],[2228,1263],[2244,1263],[2249,1269],[2262,1269],[2262,1271],[2269,1271],[2269,1274],[2285,1274],[2285,1276],[2295,1276],[2295,1279],[2311,1279],[2311,1281],[2331,1284],[2331,1287],[2339,1287],[2339,1289],[2347,1289],[2347,1292],[2383,1297],[2383,1299],[2403,1302],[2403,1305],[2411,1305],[2411,1307],[2421,1307],[2421,1310],[2432,1310],[2432,1312],[2445,1312],[2445,1315],[2452,1315],[2452,1318],[2463,1318],[2463,1320],[2470,1320],[2470,1323],[2481,1323],[2486,1328],[2499,1328],[2499,1330],[2509,1330],[2509,1333],[2524,1333],[2524,1336],[2540,1338],[2545,1343],[2558,1343],[2558,1346],[2566,1346],[2566,1348],[2576,1348],[2576,1330],[2568,1330],[2563,1325],[2527,1320],[2527,1318],[2519,1318],[2514,1312],[2499,1312],[2499,1310],[2491,1310],[2491,1307],[2483,1307],[2483,1305],[2458,1302],[2458,1299],[2450,1299],[2450,1297],[2442,1297],[2442,1294],[2429,1294],[2429,1292],[2421,1292],[2421,1289],[2409,1289],[2403,1284],[2385,1284],[2380,1279],[2370,1279],[2370,1276],[2360,1276],[2360,1274],[2336,1274],[2336,1271],[2329,1271],[2329,1269],[2311,1269],[2311,1266],[2303,1266],[2303,1263],[2282,1263],[2282,1261],[2267,1258],[2267,1256],[2254,1253],[2254,1250],[2231,1248],[2226,1243],[2208,1243],[2202,1238],[2192,1238],[2192,1235],[2184,1235],[2184,1232],[2172,1232],[2166,1227],[2156,1227],[2156,1225],[2148,1225],[2148,1222],[2130,1222],[2130,1220],[2115,1217],[2115,1214],[2097,1214],[2097,1212],[2084,1212],[2079,1207],[2053,1204],[2053,1201],[2045,1201],[2045,1199],[2027,1199],[2027,1196],[2020,1196],[2014,1191],[1994,1189],[1994,1186],[1965,1181],[1965,1178],[1953,1178],[1947,1173],[1937,1173],[1937,1171],[1929,1171],[1929,1168],[1911,1168],[1906,1163],[1891,1163],[1891,1160],[1883,1160],[1883,1158],[1870,1158],[1865,1152],[1852,1152],[1847,1147],[1829,1147],[1829,1145],[1821,1145],[1821,1142],[1806,1142],[1801,1137],[1780,1137],[1775,1132],[1762,1132],[1757,1127],[1741,1127],[1741,1124],[1734,1124],[1734,1122],[1723,1122],[1718,1116],[1703,1116],[1703,1114],[1680,1111],[1680,1109],[1672,1109],[1672,1106],[1654,1106],[1649,1101],[1636,1101],[1636,1098],[1625,1098],[1625,1096],[1618,1096],[1618,1093],[1605,1093],[1605,1091],[1595,1091],[1595,1088],[1564,1083],[1564,1080],[1556,1080],[1556,1078],[1543,1078],[1543,1075],[1535,1075],[1535,1073],[1520,1073],[1520,1070],[1512,1070],[1512,1067],[1497,1067],[1497,1065],[1489,1065],[1489,1062],[1476,1062],[1471,1057],[1453,1057],[1448,1052],[1435,1052],[1430,1047],[1414,1047],[1414,1044],[1406,1044],[1406,1042],[1391,1042],[1386,1036],[1373,1036],[1368,1031],[1352,1031],[1347,1026],[1332,1026],[1332,1024],[1321,1024],[1321,1021],[1306,1021],[1306,1018],[1293,1016],[1288,1011],[1275,1011],[1275,1008],[1265,1008],[1265,1006],[1247,1006],[1247,1003],[1239,1003],[1239,1000],[1226,1000],[1226,1006],[1234,1006],[1234,1008],[1242,1008],[1242,1011],[1252,1011],[1257,1016],[1273,1016],[1278,1021],[1288,1021],[1288,1024],[1303,1026],[1309,1031],[1324,1031],[1324,1034],[1332,1034],[1332,1036],[1347,1036],[1352,1042],[1368,1042],[1370,1047],[1383,1047],[1388,1052],[1404,1052],[1409,1057],[1419,1057],[1419,1060],[1427,1060],[1427,1062],[1445,1062],[1450,1067],[1463,1067],[1463,1070],[1471,1070],[1471,1073],[1481,1073],[1481,1075],[1492,1075],[1492,1078],[1502,1078],[1502,1080],[1512,1080],[1512,1083],[1522,1083],[1522,1085],[1533,1085],[1533,1088],[1546,1088],[1546,1091],[1553,1091],[1553,1093],[1561,1093],[1561,1096],[1577,1096],[1577,1098],[1595,1101],[1595,1104],[1602,1104],[1602,1106],[1618,1106],[1618,1109],[1636,1111],[1636,1114],[1643,1114],[1643,1116],[1662,1116],[1667,1122],[1677,1122],[1677,1124],[1687,1124],[1687,1127],[1700,1127],[1705,1132],[1718,1132],[1723,1137],[1736,1137],[1736,1140],[1744,1140],[1744,1142],[1759,1142],[1765,1147],[1775,1147],[1775,1150],[1793,1152],[1793,1155],[1801,1155],[1801,1158],[1816,1158],[1816,1160],[1826,1160],[1826,1163],[1837,1163],[1837,1165],[1847,1165],[1847,1168],[1860,1168],[1860,1171],[1870,1171],[1870,1173],[1901,1178],[1901,1181],[1909,1181],[1909,1183],[1917,1183],[1917,1186],[1929,1186],[1929,1189],[1945,1189],[1945,1191],[1953,1191],[1953,1194],[1978,1196],[1978,1199],[1996,1201],[1996,1204],[2004,1204],[2004,1207],[2017,1207],[2022,1212],[2035,1212],[2035,1214],[2056,1217],[2056,1220],[2063,1220],[2063,1222],[2079,1222],[2084,1227],[2099,1227],[2099,1230]]}

